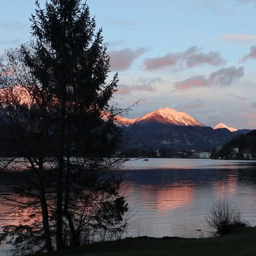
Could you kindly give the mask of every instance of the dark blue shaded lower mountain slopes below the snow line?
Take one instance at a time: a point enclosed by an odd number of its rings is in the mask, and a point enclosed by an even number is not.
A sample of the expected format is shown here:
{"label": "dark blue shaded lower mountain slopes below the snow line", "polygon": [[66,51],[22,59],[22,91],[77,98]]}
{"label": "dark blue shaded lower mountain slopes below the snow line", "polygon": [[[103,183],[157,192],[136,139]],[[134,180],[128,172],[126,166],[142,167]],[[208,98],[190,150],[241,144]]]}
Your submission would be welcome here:
{"label": "dark blue shaded lower mountain slopes below the snow line", "polygon": [[249,130],[231,132],[228,129],[213,129],[206,126],[178,126],[160,122],[135,122],[124,128],[128,148],[151,148],[158,150],[162,147],[173,150],[181,149],[212,149],[229,142],[240,133]]}

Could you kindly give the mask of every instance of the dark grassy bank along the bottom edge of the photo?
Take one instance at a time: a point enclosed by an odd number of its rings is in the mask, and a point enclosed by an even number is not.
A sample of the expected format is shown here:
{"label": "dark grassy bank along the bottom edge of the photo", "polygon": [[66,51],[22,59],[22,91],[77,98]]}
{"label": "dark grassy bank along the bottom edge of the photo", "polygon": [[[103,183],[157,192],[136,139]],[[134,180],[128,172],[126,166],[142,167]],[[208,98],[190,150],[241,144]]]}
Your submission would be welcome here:
{"label": "dark grassy bank along the bottom edge of the photo", "polygon": [[256,227],[239,228],[214,238],[125,238],[80,246],[44,256],[251,256],[256,255]]}

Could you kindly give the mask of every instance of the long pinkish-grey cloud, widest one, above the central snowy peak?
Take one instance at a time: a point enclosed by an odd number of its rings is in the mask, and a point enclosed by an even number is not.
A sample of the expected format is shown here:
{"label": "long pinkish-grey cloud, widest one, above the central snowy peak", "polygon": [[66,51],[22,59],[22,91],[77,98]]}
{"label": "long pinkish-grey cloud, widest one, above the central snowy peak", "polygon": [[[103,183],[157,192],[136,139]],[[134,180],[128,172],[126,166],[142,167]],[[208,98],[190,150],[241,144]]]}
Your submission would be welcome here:
{"label": "long pinkish-grey cloud, widest one, above the central snowy peak", "polygon": [[182,70],[185,68],[193,68],[194,66],[208,64],[210,66],[220,66],[226,63],[219,52],[200,52],[197,46],[191,46],[184,52],[172,52],[162,57],[146,58],[144,60],[145,70],[160,70],[164,68],[172,68],[174,70]]}

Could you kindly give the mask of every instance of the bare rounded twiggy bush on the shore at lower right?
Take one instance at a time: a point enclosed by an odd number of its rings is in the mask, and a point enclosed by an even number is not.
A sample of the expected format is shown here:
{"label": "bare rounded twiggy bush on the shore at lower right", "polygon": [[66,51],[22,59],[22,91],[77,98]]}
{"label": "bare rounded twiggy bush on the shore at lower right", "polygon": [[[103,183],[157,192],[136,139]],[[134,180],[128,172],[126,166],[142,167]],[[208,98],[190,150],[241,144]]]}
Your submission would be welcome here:
{"label": "bare rounded twiggy bush on the shore at lower right", "polygon": [[248,222],[242,219],[242,209],[228,198],[213,200],[206,210],[204,226],[215,228],[220,234],[229,233],[238,226],[248,226]]}

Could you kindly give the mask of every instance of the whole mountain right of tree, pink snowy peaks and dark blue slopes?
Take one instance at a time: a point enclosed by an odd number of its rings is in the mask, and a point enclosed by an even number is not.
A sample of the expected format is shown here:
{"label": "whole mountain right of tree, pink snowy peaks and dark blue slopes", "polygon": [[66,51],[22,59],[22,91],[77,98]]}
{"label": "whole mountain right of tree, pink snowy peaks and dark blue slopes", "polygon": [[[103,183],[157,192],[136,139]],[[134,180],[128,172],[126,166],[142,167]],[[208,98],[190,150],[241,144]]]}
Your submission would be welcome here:
{"label": "whole mountain right of tree, pink snowy peaks and dark blue slopes", "polygon": [[250,130],[236,130],[225,124],[211,128],[206,127],[184,112],[171,108],[160,108],[141,118],[117,117],[126,138],[127,148],[162,147],[180,149],[212,149],[229,142],[238,134]]}

